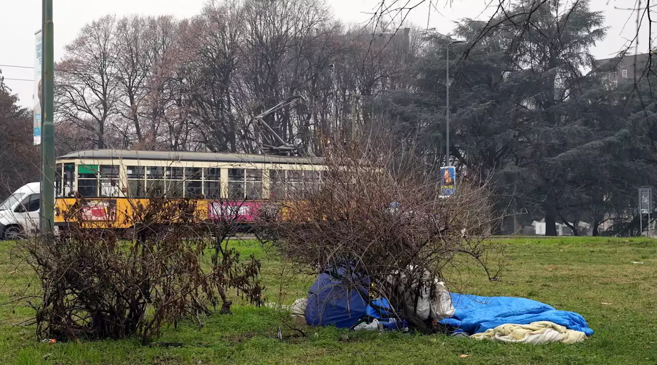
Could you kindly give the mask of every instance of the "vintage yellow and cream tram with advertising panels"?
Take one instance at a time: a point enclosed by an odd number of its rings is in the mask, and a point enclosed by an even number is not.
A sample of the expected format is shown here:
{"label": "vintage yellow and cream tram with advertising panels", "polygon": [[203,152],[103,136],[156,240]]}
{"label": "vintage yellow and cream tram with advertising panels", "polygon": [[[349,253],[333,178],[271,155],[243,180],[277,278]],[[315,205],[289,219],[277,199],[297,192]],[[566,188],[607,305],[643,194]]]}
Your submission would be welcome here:
{"label": "vintage yellow and cream tram with advertising panels", "polygon": [[154,194],[193,199],[200,216],[210,220],[217,214],[214,205],[236,205],[248,222],[264,202],[288,199],[302,184],[319,185],[323,170],[317,157],[76,151],[57,158],[55,226],[130,228],[133,207],[148,205]]}

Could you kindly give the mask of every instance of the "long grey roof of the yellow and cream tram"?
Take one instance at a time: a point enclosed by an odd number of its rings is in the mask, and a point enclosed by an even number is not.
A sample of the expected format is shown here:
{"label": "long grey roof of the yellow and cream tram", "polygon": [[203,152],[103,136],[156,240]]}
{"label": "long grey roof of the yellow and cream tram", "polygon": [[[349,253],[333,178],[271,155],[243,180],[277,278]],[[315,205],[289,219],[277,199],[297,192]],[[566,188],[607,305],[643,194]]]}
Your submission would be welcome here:
{"label": "long grey roof of the yellow and cream tram", "polygon": [[272,164],[323,164],[321,157],[286,157],[249,155],[243,153],[212,153],[186,151],[133,151],[122,149],[87,149],[74,151],[58,158],[97,158],[127,160],[180,160],[208,162],[265,162]]}

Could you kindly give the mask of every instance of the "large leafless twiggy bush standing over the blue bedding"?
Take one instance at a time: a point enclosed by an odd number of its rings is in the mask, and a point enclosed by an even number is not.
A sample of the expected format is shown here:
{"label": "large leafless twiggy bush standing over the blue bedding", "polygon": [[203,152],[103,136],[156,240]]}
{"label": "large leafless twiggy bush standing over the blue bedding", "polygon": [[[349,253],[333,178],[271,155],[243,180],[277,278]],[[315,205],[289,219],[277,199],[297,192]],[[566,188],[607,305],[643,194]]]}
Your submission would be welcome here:
{"label": "large leafless twiggy bush standing over the blue bedding", "polygon": [[375,287],[421,331],[428,330],[426,324],[404,298],[418,283],[449,281],[442,276],[447,266],[472,266],[458,255],[474,258],[470,262],[496,280],[498,271],[489,270],[489,260],[501,249],[485,240],[495,219],[484,187],[461,179],[457,193],[442,198],[439,168],[373,145],[333,151],[325,165],[319,186],[304,183],[296,194],[302,199],[275,202],[279,214],[264,215],[258,223],[259,237],[300,270],[348,268],[345,285]]}

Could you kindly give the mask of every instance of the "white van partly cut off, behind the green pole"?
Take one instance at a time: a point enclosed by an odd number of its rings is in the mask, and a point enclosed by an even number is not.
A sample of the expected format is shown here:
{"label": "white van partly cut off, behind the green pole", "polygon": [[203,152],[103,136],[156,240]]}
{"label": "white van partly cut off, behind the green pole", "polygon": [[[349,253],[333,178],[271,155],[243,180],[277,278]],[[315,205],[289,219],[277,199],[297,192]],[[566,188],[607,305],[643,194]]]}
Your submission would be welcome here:
{"label": "white van partly cut off, behind the green pole", "polygon": [[0,239],[8,241],[35,234],[39,228],[41,183],[28,183],[0,204]]}

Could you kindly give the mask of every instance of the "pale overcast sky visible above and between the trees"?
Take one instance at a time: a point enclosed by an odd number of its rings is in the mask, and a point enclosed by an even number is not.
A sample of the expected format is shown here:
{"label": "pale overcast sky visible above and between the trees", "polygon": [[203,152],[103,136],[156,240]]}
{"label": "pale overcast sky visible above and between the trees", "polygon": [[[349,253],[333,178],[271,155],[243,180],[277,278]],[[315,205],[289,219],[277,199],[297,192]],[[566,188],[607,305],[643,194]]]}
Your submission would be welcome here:
{"label": "pale overcast sky visible above and between the trees", "polygon": [[[41,27],[41,0],[2,0],[0,12],[0,70],[6,79],[34,79],[34,70],[12,66],[34,66],[34,33]],[[365,22],[371,17],[380,0],[328,0],[336,18],[345,22]],[[420,0],[411,0],[416,3]],[[440,32],[451,31],[453,22],[461,18],[486,19],[492,10],[487,10],[491,0],[440,0],[429,11],[426,1],[412,11],[407,21],[421,26],[436,28]],[[403,1],[405,3],[405,1]],[[173,14],[187,18],[198,14],[206,0],[55,0],[53,18],[55,22],[55,60],[62,57],[63,47],[76,37],[78,30],[87,22],[105,14],[124,16],[128,14],[160,15]],[[388,0],[386,3],[390,3]],[[493,0],[495,3],[495,0]],[[622,8],[631,7],[630,0],[591,0],[594,11],[604,11],[607,37],[593,49],[598,58],[612,57],[636,32],[636,13]],[[92,5],[93,4],[93,5]],[[646,20],[647,23],[647,20]],[[647,51],[647,31],[641,32],[639,53]],[[32,105],[33,83],[30,81],[5,80],[14,93],[18,93],[21,105]]]}

